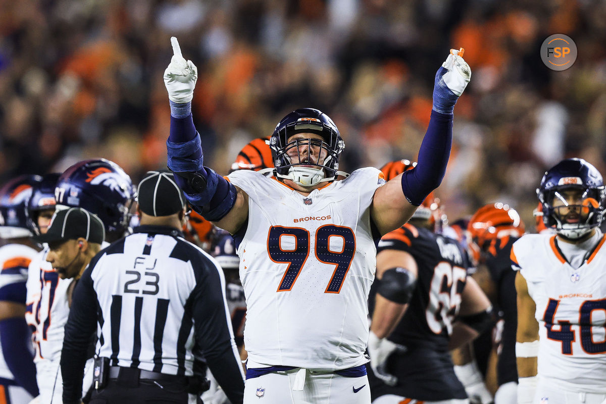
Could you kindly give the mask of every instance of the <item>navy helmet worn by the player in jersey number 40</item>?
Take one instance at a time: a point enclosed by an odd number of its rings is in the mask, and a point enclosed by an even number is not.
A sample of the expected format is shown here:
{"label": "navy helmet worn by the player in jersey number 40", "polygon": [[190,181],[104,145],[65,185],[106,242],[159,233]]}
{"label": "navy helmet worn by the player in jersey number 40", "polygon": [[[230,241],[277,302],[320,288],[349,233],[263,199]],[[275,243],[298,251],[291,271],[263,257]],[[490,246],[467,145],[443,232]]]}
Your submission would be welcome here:
{"label": "navy helmet worn by the player in jersey number 40", "polygon": [[[581,191],[581,204],[569,205],[562,190],[571,188]],[[601,225],[605,213],[606,191],[599,171],[583,159],[565,159],[545,172],[536,193],[543,208],[543,222],[547,227],[555,227],[558,234],[568,239],[578,239],[592,228]],[[554,207],[554,199],[561,206],[576,208],[581,217],[577,223],[567,223],[559,214],[560,207]],[[586,218],[583,219],[582,216]]]}

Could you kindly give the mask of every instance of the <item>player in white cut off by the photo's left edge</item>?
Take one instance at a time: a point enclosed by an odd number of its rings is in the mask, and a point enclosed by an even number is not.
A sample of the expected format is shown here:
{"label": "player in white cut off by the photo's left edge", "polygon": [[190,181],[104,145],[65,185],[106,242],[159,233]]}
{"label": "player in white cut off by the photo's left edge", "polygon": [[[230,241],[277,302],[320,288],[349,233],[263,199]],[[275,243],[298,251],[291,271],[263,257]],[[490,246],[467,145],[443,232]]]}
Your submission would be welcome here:
{"label": "player in white cut off by the photo's left edge", "polygon": [[38,253],[29,240],[25,207],[40,176],[19,176],[0,190],[0,402],[38,396],[32,342],[25,323],[27,266]]}

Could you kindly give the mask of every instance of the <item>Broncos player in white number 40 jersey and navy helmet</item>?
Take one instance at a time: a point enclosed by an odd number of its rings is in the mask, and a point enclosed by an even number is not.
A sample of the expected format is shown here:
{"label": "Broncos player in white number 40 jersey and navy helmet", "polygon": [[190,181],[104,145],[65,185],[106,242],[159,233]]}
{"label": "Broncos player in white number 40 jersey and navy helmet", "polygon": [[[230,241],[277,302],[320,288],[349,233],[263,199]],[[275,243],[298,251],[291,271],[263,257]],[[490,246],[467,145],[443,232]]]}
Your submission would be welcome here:
{"label": "Broncos player in white number 40 jersey and navy helmet", "polygon": [[518,403],[606,400],[606,192],[582,159],[550,168],[537,190],[547,227],[513,244]]}

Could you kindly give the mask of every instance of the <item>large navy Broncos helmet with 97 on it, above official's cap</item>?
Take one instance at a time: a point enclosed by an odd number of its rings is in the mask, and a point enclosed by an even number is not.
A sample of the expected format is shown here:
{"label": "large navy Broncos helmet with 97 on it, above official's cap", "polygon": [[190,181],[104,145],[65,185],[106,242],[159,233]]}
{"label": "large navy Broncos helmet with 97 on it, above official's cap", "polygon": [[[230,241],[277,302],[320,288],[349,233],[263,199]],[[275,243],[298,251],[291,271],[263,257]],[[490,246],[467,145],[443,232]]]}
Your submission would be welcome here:
{"label": "large navy Broncos helmet with 97 on it, above official's cap", "polygon": [[72,165],[61,174],[55,188],[57,205],[83,208],[99,216],[107,239],[121,237],[127,230],[135,197],[128,174],[106,159]]}

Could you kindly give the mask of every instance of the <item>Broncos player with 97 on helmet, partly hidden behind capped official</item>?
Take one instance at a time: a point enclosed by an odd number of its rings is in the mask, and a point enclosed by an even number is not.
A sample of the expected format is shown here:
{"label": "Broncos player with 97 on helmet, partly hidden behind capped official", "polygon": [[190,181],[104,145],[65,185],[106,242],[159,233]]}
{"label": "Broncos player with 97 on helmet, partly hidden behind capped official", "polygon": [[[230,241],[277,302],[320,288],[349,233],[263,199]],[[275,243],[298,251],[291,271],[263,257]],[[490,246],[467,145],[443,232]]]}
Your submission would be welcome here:
{"label": "Broncos player with 97 on helmet, partly hidden behind capped official", "polygon": [[[105,159],[72,165],[61,174],[54,190],[58,210],[81,207],[99,216],[105,225],[106,242],[124,234],[134,194],[130,177],[118,165]],[[48,247],[45,246],[30,263],[27,275],[28,311],[25,317],[35,329],[34,361],[40,389],[39,404],[62,402],[59,359],[70,310],[68,289],[73,282],[71,278],[62,279],[58,271],[53,270],[46,260],[47,254]],[[88,379],[84,388],[88,389],[92,384],[92,374],[88,372],[85,377]]]}

